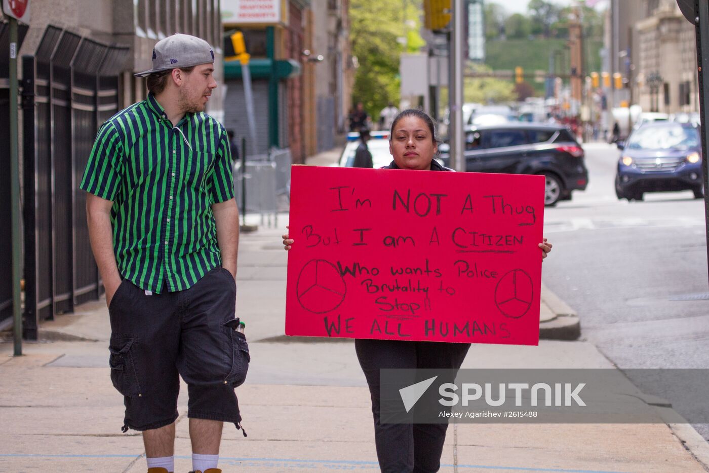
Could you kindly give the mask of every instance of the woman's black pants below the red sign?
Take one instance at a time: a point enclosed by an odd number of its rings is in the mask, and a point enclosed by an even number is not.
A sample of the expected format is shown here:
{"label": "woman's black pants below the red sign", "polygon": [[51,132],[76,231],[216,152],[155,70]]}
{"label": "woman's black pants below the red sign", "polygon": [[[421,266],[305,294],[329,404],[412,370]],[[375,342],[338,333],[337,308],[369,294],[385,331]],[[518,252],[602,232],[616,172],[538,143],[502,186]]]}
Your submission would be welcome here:
{"label": "woman's black pants below the red sign", "polygon": [[376,457],[382,473],[437,472],[448,424],[380,423],[379,370],[459,369],[470,344],[356,339],[354,348],[372,395]]}

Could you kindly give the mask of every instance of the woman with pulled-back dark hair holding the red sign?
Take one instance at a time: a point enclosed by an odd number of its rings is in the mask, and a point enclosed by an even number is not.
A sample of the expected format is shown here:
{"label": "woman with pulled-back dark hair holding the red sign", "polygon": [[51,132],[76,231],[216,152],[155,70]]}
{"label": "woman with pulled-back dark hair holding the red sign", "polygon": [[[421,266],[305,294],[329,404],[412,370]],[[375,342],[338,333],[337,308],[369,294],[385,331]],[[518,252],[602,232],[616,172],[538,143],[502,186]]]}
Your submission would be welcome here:
{"label": "woman with pulled-back dark hair holding the red sign", "polygon": [[[452,171],[433,159],[438,151],[435,124],[420,110],[408,109],[396,116],[391,126],[389,151],[393,161],[386,169]],[[289,250],[294,240],[284,234],[283,244]],[[552,244],[544,239],[539,246],[544,259],[552,250]],[[448,424],[381,423],[379,370],[434,368],[457,371],[470,344],[355,339],[354,347],[372,396],[376,455],[381,471],[437,472]]]}

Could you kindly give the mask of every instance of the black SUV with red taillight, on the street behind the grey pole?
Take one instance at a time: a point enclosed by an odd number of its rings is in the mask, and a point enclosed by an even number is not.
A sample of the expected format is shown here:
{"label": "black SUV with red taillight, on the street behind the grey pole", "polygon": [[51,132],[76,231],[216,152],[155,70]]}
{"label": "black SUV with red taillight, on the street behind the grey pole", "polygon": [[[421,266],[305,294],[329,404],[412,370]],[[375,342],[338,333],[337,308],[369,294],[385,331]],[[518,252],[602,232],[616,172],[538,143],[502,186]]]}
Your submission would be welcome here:
{"label": "black SUV with red taillight, on the street behind the grey pole", "polygon": [[[547,177],[545,205],[570,200],[584,190],[588,171],[584,148],[559,125],[511,121],[465,129],[466,170],[471,173],[542,174]],[[448,156],[442,156],[447,165]]]}

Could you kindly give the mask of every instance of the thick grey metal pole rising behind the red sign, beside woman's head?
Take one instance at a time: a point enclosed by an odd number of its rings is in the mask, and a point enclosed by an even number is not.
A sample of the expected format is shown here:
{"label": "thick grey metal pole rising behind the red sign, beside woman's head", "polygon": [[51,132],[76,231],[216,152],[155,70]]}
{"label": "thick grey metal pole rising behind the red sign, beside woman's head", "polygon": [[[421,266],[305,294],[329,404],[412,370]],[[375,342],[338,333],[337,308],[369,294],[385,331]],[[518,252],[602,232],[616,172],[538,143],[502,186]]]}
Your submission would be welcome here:
{"label": "thick grey metal pole rising behind the red sign, beside woman's head", "polygon": [[454,170],[465,170],[463,156],[463,17],[464,0],[453,0],[452,31],[450,33],[450,78],[449,78],[449,116],[450,127],[450,166]]}

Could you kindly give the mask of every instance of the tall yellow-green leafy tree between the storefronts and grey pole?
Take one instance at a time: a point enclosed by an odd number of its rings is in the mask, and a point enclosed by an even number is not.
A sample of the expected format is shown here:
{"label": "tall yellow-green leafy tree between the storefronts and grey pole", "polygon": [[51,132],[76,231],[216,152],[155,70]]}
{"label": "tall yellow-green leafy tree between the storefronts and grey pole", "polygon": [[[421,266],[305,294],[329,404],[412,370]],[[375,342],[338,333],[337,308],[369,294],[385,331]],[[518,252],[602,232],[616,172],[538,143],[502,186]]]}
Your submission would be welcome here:
{"label": "tall yellow-green leafy tree between the storefronts and grey pole", "polygon": [[[350,3],[352,55],[359,62],[354,73],[352,100],[362,102],[369,116],[378,116],[387,102],[399,101],[401,53],[416,52],[425,45],[416,33],[421,11],[420,0],[408,2],[406,9],[389,1],[352,0]],[[404,38],[405,45],[399,38]]]}

